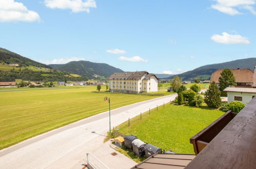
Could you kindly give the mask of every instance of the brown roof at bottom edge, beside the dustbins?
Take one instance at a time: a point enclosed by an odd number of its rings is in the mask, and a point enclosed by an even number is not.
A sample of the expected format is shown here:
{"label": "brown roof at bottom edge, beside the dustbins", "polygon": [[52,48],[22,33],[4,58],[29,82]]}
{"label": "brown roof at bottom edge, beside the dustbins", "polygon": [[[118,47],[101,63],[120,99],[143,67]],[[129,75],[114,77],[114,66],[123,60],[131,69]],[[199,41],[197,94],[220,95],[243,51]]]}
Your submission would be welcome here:
{"label": "brown roof at bottom edge, beside the dustbins", "polygon": [[132,168],[185,168],[194,157],[187,154],[155,154]]}

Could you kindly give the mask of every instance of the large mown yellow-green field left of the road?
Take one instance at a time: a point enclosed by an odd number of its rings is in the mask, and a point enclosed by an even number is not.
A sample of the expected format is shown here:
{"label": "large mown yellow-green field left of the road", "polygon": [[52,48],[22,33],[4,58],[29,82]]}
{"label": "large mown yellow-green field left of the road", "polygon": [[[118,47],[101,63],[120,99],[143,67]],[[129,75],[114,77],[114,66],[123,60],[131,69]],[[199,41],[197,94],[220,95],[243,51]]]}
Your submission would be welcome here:
{"label": "large mown yellow-green field left of the road", "polygon": [[112,109],[157,97],[92,93],[96,91],[96,87],[91,86],[65,88],[67,87],[1,91],[0,149],[107,111],[108,103],[103,101],[105,96],[111,98]]}

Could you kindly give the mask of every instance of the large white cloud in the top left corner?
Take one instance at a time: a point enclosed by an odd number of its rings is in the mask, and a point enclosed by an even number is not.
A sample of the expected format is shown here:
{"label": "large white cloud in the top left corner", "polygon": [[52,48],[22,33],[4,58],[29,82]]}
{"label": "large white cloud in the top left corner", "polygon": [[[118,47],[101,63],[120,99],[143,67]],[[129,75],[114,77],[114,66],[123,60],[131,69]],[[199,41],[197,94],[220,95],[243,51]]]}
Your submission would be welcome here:
{"label": "large white cloud in the top left corner", "polygon": [[14,0],[0,0],[0,22],[40,22],[40,16],[22,3]]}

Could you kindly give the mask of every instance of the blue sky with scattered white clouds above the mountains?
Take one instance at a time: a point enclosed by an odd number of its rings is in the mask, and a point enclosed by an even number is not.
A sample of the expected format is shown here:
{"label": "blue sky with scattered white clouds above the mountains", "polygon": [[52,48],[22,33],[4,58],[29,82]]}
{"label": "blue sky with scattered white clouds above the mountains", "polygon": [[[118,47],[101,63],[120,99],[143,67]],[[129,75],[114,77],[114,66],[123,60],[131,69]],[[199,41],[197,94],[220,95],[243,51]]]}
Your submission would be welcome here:
{"label": "blue sky with scattered white clouds above the mountains", "polygon": [[46,64],[182,73],[255,57],[256,0],[0,0],[0,47]]}

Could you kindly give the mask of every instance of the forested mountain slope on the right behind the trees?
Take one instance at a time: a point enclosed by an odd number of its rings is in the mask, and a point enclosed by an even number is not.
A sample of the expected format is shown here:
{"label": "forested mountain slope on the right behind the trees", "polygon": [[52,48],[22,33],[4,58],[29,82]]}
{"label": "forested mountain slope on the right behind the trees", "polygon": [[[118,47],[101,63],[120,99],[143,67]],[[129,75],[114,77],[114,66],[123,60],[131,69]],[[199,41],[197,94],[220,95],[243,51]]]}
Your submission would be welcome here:
{"label": "forested mountain slope on the right behind the trees", "polygon": [[[254,71],[254,66],[256,66],[256,58],[252,57],[252,58],[223,62],[221,64],[205,65],[205,66],[196,68],[192,71],[187,71],[182,74],[178,74],[177,76],[179,76],[183,80],[193,80],[195,78],[200,78],[201,80],[209,80],[211,77],[211,74],[218,69],[249,68],[250,70]],[[172,79],[174,76],[175,75],[169,76],[166,79]]]}

